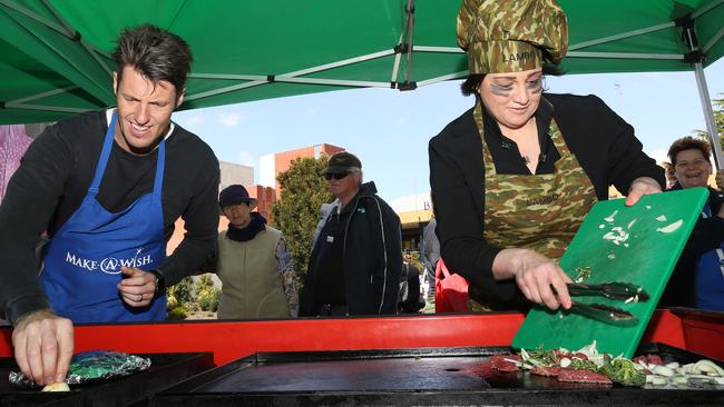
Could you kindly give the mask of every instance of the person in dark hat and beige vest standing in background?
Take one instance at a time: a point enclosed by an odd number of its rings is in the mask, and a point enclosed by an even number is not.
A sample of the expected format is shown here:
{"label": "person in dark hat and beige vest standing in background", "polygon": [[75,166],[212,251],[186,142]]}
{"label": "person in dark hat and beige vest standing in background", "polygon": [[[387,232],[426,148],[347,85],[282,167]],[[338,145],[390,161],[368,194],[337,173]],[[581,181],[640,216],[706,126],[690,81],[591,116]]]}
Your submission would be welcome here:
{"label": "person in dark hat and beige vest standing in background", "polygon": [[284,235],[252,212],[256,199],[241,185],[222,190],[218,205],[228,219],[211,261],[223,284],[218,319],[296,317],[294,268]]}

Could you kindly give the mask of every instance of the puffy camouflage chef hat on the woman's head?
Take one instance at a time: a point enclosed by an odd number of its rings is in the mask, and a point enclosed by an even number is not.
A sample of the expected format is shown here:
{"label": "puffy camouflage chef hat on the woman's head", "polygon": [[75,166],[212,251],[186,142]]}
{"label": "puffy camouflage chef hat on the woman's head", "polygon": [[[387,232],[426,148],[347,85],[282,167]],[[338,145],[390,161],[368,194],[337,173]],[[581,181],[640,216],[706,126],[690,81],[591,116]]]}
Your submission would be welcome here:
{"label": "puffy camouflage chef hat on the woman's head", "polygon": [[557,64],[568,49],[566,13],[556,0],[464,0],[458,46],[468,52],[470,73]]}

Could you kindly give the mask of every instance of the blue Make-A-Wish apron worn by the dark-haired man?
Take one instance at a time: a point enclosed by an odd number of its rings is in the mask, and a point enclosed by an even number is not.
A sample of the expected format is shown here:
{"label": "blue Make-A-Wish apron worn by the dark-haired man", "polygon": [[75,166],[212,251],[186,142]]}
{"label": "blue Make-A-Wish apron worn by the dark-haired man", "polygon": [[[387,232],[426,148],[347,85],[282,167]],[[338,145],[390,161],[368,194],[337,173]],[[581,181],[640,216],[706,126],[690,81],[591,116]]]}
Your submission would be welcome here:
{"label": "blue Make-A-Wish apron worn by the dark-haired man", "polygon": [[117,214],[96,199],[114,145],[114,111],[94,180],[80,207],[46,246],[40,280],[56,314],[74,322],[163,320],[166,296],[127,306],[117,285],[121,266],[151,270],[166,257],[162,190],[165,140],[158,145],[154,190]]}

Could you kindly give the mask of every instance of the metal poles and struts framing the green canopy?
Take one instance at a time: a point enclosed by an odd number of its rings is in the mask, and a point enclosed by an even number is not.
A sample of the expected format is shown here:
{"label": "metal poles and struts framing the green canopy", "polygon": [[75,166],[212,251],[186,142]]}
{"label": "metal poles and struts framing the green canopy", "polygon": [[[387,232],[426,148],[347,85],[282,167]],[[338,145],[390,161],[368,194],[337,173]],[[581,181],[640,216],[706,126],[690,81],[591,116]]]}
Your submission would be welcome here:
{"label": "metal poles and struts framing the green canopy", "polygon": [[[97,49],[95,46],[86,41],[80,33],[75,30],[67,21],[63,20],[63,18],[58,13],[58,11],[50,4],[49,0],[41,0],[42,4],[50,11],[52,17],[57,20],[56,22],[50,21],[37,13],[35,13],[31,10],[28,10],[27,8],[19,6],[12,0],[0,0],[0,6],[11,9],[29,19],[32,21],[39,22],[47,28],[51,29],[52,31],[56,31],[62,36],[65,36],[68,39],[71,39],[75,44],[80,47],[80,50],[85,52],[86,54],[90,56],[97,62],[97,64],[101,68],[104,72],[106,72],[108,76],[111,75],[111,69],[107,66],[107,63],[104,61],[101,57],[105,57],[106,59],[109,57],[106,52],[102,50]],[[724,3],[724,0],[717,0],[713,1],[706,7],[702,7],[698,10],[693,11],[692,13],[684,16],[675,21],[666,22],[666,23],[659,23],[656,26],[652,27],[646,27],[646,28],[640,28],[636,29],[633,31],[628,32],[622,32],[617,33],[615,36],[609,36],[605,38],[599,38],[599,39],[594,39],[576,44],[569,46],[567,58],[612,58],[612,59],[650,59],[650,60],[679,60],[679,61],[686,61],[692,63],[693,71],[695,75],[696,79],[696,85],[699,93],[699,99],[702,102],[702,108],[704,111],[704,119],[706,122],[706,128],[707,128],[707,135],[710,138],[710,142],[712,145],[712,150],[714,151],[714,160],[715,160],[715,166],[717,168],[722,168],[724,165],[724,158],[722,157],[722,145],[720,142],[720,137],[716,130],[716,122],[714,119],[714,109],[712,107],[712,101],[711,97],[708,93],[708,87],[706,85],[706,78],[704,75],[704,68],[703,68],[703,62],[705,61],[706,58],[706,52],[714,47],[714,44],[721,40],[722,37],[724,37],[724,27],[720,29],[716,34],[703,47],[699,47],[697,43],[696,39],[696,32],[694,29],[695,21],[697,18],[707,13],[708,11],[722,6]],[[212,89],[203,92],[196,92],[196,93],[188,93],[186,95],[185,100],[190,101],[190,100],[197,100],[197,99],[203,99],[203,98],[208,98],[222,93],[227,93],[232,91],[236,91],[239,89],[246,89],[246,88],[252,88],[261,85],[267,85],[267,83],[273,83],[273,82],[287,82],[287,83],[301,83],[301,85],[313,85],[313,86],[331,86],[331,87],[352,87],[352,88],[391,88],[391,89],[399,89],[399,90],[412,90],[421,86],[428,86],[432,83],[437,83],[440,81],[444,80],[451,80],[451,79],[461,79],[464,78],[468,75],[467,70],[458,71],[458,72],[452,72],[448,75],[443,75],[437,78],[430,78],[425,79],[422,81],[412,81],[410,77],[411,68],[413,66],[413,56],[415,52],[432,52],[432,53],[462,53],[462,51],[458,48],[453,47],[437,47],[437,46],[427,46],[427,44],[421,44],[417,46],[413,43],[413,28],[414,28],[414,0],[408,0],[404,12],[407,13],[407,18],[404,19],[402,32],[400,34],[400,38],[398,40],[398,43],[392,48],[392,49],[387,49],[387,50],[381,50],[372,53],[366,53],[340,61],[334,61],[334,62],[329,62],[324,64],[320,64],[316,67],[310,67],[305,68],[302,70],[296,70],[293,72],[286,72],[286,73],[281,73],[281,75],[267,75],[267,76],[260,76],[260,75],[243,75],[243,73],[205,73],[205,72],[192,72],[189,75],[189,78],[196,78],[196,79],[218,79],[218,80],[224,80],[224,81],[241,81],[241,83],[232,85],[232,86],[225,86],[218,89]],[[14,19],[19,24],[22,26],[22,21],[18,20],[17,18]],[[661,30],[666,30],[671,29],[673,27],[682,27],[684,29],[685,36],[684,36],[684,41],[686,42],[687,49],[689,52],[679,54],[679,53],[646,53],[646,52],[591,52],[591,51],[586,51],[587,48],[594,47],[594,46],[599,46],[603,43],[607,42],[613,42],[613,41],[618,41],[623,39],[628,39],[637,36],[643,36],[643,34],[648,34],[653,32],[657,32]],[[30,28],[27,26],[23,26],[28,30],[28,32],[31,32]],[[42,43],[46,44],[46,47],[52,49],[51,44],[47,42],[42,37],[36,36],[36,38],[41,41]],[[74,66],[74,61],[69,60],[67,57],[62,54],[59,50],[55,50],[55,53],[62,58],[67,63],[69,63],[72,68],[76,68]],[[331,79],[331,78],[309,78],[305,76],[312,75],[312,73],[319,73],[323,72],[326,70],[332,70],[335,68],[341,68],[345,66],[351,66],[360,62],[365,62],[365,61],[371,61],[374,59],[379,58],[385,58],[389,56],[394,54],[393,58],[393,63],[391,67],[390,71],[390,81],[389,82],[380,82],[380,81],[363,81],[363,80],[342,80],[342,79]],[[404,80],[400,81],[400,64],[402,61],[402,57],[407,57],[407,72],[404,75]],[[81,75],[82,70],[77,69]],[[84,75],[85,79],[87,79],[89,82],[94,83],[96,82],[97,78],[90,77],[89,73]],[[48,106],[48,105],[42,105],[42,103],[29,103],[31,101],[39,101],[46,97],[51,97],[56,95],[60,95],[62,92],[69,92],[79,89],[78,86],[71,86],[71,87],[66,87],[62,89],[56,89],[56,90],[50,90],[50,91],[45,91],[45,92],[39,92],[36,95],[27,96],[23,98],[14,99],[14,100],[9,100],[4,101],[3,107],[4,108],[14,108],[14,109],[29,109],[29,110],[45,110],[45,111],[58,111],[58,112],[69,112],[69,113],[77,113],[77,112],[82,112],[86,111],[87,109],[81,109],[81,108],[70,108],[70,107],[61,107],[61,106]],[[94,95],[98,97],[98,95]]]}

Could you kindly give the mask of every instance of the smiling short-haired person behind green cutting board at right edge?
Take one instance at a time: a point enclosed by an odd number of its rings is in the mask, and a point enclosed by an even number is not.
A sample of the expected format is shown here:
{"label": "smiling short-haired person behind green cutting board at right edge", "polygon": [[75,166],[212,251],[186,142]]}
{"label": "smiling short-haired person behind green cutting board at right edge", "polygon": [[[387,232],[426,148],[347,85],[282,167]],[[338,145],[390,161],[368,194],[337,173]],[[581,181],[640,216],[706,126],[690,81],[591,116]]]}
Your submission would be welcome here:
{"label": "smiling short-haired person behind green cutting board at right edge", "polygon": [[672,190],[706,187],[710,196],[659,306],[724,310],[724,171],[716,177],[718,191],[706,185],[712,175],[711,155],[710,145],[693,137],[678,139],[668,149],[676,179]]}

